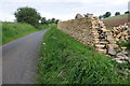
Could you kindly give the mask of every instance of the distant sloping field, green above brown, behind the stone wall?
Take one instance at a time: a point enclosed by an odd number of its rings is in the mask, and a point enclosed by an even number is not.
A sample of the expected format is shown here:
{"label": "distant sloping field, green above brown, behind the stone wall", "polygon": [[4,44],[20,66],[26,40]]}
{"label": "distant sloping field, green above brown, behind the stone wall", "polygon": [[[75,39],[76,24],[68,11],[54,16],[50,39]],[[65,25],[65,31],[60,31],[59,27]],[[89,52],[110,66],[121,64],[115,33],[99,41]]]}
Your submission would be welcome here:
{"label": "distant sloping field, green above brown, behind the stone wall", "polygon": [[123,14],[118,16],[112,16],[102,19],[107,28],[123,25],[125,23],[130,23],[130,14]]}

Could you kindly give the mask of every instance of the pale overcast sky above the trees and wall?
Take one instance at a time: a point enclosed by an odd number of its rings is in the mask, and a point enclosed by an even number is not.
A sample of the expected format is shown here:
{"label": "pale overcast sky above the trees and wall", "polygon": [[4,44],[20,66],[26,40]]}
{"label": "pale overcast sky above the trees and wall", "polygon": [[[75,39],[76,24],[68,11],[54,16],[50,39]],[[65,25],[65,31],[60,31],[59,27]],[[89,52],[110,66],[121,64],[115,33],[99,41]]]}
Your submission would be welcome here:
{"label": "pale overcast sky above the trees and wall", "polygon": [[62,20],[73,19],[77,13],[92,13],[95,16],[109,11],[123,14],[129,0],[0,0],[0,20],[13,22],[18,8],[36,9],[42,17]]}

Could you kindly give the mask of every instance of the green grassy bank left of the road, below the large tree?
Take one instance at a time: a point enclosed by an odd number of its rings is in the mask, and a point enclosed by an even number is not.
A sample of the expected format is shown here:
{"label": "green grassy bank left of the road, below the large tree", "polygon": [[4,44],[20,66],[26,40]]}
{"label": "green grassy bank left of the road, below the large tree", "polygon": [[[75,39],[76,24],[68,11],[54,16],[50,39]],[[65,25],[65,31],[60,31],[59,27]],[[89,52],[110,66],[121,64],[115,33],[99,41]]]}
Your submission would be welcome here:
{"label": "green grassy bank left of the road, below the large tree", "polygon": [[39,29],[29,24],[20,23],[2,23],[2,44],[11,42],[15,39],[29,34],[31,32],[39,31],[47,26],[40,26]]}

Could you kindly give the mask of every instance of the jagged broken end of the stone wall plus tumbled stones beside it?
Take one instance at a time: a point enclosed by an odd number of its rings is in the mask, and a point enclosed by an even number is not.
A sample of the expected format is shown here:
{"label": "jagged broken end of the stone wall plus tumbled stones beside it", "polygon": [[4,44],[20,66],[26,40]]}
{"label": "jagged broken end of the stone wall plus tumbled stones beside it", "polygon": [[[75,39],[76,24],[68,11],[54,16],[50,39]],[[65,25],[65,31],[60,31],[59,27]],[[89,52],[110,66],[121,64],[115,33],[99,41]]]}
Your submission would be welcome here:
{"label": "jagged broken end of the stone wall plus tumbled stones beside it", "polygon": [[[127,24],[123,26],[116,27],[113,31],[107,30],[104,24],[93,15],[88,15],[92,24],[91,34],[93,35],[93,45],[99,53],[107,54],[109,56],[115,56],[114,60],[117,62],[123,62],[130,59],[128,58],[127,47],[119,47],[116,43],[117,41],[128,41],[128,27]],[[120,53],[116,51],[120,49]]]}

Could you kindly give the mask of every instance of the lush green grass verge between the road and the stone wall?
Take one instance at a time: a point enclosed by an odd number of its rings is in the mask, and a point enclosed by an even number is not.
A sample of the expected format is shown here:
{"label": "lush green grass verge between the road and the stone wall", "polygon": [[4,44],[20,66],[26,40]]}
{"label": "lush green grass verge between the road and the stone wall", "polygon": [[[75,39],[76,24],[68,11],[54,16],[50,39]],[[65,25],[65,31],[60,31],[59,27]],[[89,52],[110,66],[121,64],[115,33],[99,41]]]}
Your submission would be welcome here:
{"label": "lush green grass verge between the road and the stone wall", "polygon": [[55,28],[41,44],[38,84],[128,84],[119,63]]}

